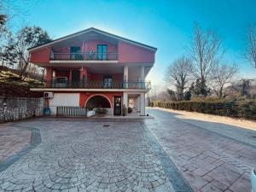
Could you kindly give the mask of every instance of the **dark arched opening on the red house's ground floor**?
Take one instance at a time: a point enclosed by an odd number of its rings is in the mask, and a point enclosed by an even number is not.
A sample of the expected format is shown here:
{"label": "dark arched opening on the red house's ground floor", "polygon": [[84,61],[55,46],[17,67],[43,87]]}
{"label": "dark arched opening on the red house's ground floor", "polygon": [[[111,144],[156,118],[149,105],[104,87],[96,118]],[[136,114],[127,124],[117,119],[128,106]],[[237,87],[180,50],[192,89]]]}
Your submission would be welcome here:
{"label": "dark arched opening on the red house's ground floor", "polygon": [[90,110],[93,108],[111,108],[111,104],[106,96],[96,95],[88,98],[85,107]]}

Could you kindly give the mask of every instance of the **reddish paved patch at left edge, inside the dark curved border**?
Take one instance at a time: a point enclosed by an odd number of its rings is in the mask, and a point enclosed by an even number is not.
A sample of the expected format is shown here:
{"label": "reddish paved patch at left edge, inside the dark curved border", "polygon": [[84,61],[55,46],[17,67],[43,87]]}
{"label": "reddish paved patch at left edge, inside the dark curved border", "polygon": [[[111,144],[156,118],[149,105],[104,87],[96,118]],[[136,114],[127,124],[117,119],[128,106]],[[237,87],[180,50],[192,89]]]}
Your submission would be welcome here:
{"label": "reddish paved patch at left edge, inside the dark curved border", "polygon": [[0,162],[26,148],[30,141],[30,130],[13,127],[9,123],[0,125]]}

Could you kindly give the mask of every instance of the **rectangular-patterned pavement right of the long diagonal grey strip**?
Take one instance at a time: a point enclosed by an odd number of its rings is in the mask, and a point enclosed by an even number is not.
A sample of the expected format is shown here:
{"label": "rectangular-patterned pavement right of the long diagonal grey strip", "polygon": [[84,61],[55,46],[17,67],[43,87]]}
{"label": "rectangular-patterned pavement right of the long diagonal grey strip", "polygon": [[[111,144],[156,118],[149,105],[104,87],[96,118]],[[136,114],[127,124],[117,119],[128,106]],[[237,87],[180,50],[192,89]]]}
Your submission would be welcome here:
{"label": "rectangular-patterned pavement right of the long diagonal grey strip", "polygon": [[155,119],[146,125],[195,192],[251,192],[256,131],[178,119],[175,113],[157,109],[148,113]]}

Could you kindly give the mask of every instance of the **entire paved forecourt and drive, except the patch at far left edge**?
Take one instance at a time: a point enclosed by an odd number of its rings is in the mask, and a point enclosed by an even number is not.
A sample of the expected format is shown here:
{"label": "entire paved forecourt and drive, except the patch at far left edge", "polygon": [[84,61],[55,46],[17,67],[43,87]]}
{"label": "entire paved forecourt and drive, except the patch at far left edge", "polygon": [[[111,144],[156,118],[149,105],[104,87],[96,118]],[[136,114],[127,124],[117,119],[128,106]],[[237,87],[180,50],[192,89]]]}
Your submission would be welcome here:
{"label": "entire paved forecourt and drive, except the patch at far left edge", "polygon": [[254,131],[148,113],[9,124],[32,131],[32,145],[0,163],[0,191],[192,191],[186,180],[194,191],[251,190]]}

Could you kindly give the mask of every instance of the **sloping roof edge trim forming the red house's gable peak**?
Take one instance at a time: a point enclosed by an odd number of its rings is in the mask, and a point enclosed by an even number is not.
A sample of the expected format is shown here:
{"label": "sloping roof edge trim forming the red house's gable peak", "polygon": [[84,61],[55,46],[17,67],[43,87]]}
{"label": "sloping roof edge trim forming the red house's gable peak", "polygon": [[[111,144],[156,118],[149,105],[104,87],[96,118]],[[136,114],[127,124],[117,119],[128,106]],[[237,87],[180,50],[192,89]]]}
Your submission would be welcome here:
{"label": "sloping roof edge trim forming the red house's gable peak", "polygon": [[84,33],[87,33],[87,32],[91,32],[91,31],[98,32],[98,33],[103,34],[103,35],[105,35],[105,36],[108,36],[108,37],[110,37],[110,38],[119,39],[119,40],[124,41],[124,42],[129,43],[129,44],[135,44],[135,45],[140,46],[140,47],[143,47],[143,48],[145,48],[145,49],[150,49],[150,50],[156,51],[156,49],[150,48],[150,47],[148,47],[148,46],[146,46],[146,45],[137,44],[136,42],[129,41],[128,39],[126,40],[126,39],[121,38],[121,37],[120,37],[120,38],[119,38],[119,37],[115,37],[115,36],[113,36],[113,35],[111,35],[111,34],[108,34],[108,33],[106,33],[106,32],[100,32],[100,31],[98,31],[98,30],[96,30],[96,29],[94,29],[94,28],[90,28],[90,29],[88,29],[88,30],[84,30],[83,32],[78,32],[78,33],[73,34],[73,35],[68,35],[67,38],[61,38],[61,39],[59,39],[59,40],[55,40],[55,41],[53,41],[53,42],[49,42],[49,44],[43,44],[43,45],[41,45],[41,46],[38,46],[38,47],[35,47],[35,48],[32,48],[32,49],[29,49],[29,52],[31,52],[31,51],[33,51],[33,50],[36,50],[36,49],[41,49],[41,48],[46,47],[46,46],[49,46],[50,44],[55,44],[55,43],[61,42],[61,41],[66,40],[66,39],[68,39],[68,38],[77,37],[77,36],[79,36],[79,35],[81,35],[81,34],[84,34]]}

